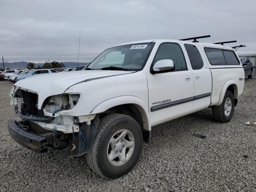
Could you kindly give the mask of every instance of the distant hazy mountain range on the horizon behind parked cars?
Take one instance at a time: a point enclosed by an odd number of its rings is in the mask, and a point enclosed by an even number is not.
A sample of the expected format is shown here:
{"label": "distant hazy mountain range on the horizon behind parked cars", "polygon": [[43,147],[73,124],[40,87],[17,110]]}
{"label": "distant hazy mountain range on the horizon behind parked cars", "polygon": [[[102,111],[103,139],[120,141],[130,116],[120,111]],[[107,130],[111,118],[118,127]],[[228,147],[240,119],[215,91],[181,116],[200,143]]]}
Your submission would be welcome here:
{"label": "distant hazy mountain range on the horizon behind parked cars", "polygon": [[[26,69],[26,66],[29,62],[20,61],[20,62],[4,62],[4,68],[10,69]],[[77,62],[62,62],[66,67],[75,67],[77,66]],[[90,63],[79,62],[78,66],[85,66]],[[35,63],[35,66],[42,66],[43,63]],[[0,62],[0,68],[3,68],[2,62]]]}

